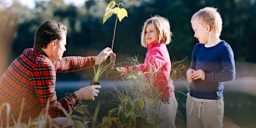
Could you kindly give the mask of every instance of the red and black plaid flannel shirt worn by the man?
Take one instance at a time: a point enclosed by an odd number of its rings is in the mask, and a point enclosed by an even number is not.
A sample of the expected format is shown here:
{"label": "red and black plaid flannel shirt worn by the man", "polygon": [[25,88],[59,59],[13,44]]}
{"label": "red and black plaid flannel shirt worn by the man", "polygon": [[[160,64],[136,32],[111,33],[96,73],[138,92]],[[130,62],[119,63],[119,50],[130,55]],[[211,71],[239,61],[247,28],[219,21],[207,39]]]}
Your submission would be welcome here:
{"label": "red and black plaid flannel shirt worn by the man", "polygon": [[[61,61],[51,62],[46,53],[39,48],[27,49],[14,60],[0,78],[0,105],[8,102],[11,105],[11,115],[17,121],[22,99],[25,99],[22,110],[22,122],[30,117],[38,117],[50,100],[49,115],[62,116],[63,107],[71,112],[78,103],[75,93],[57,101],[55,84],[56,72],[78,71],[95,65],[91,57],[63,57]],[[5,108],[5,107],[4,107]],[[6,109],[2,110],[0,122],[6,126]],[[12,118],[9,124],[13,125]]]}

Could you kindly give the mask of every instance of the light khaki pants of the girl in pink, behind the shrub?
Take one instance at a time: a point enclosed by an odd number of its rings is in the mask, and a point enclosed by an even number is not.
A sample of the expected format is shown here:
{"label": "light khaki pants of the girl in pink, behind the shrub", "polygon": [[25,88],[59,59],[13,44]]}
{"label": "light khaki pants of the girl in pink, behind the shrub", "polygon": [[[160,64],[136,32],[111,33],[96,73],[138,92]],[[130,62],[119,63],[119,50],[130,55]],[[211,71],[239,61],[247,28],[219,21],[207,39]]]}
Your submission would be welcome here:
{"label": "light khaki pants of the girl in pink, behind the shrub", "polygon": [[[157,120],[156,127],[175,128],[175,118],[178,109],[178,102],[175,95],[169,98],[169,104],[159,101],[156,106],[151,106],[146,102],[147,116],[150,119]],[[158,116],[158,117],[156,117]]]}

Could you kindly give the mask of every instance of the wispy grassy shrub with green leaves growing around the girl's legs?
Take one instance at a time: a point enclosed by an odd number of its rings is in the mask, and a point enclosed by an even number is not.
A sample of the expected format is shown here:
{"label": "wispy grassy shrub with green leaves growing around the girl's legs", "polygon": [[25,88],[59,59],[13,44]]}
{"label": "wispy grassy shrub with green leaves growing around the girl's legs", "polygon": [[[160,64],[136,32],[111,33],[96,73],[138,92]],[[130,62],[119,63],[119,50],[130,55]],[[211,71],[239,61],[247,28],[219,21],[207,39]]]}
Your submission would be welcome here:
{"label": "wispy grassy shrub with green leaves growing around the girl's legs", "polygon": [[[129,65],[139,64],[137,58],[138,56],[128,58]],[[187,70],[183,65],[185,59],[173,62],[175,67],[172,67],[171,78],[179,78],[178,80],[184,78],[182,74]],[[110,101],[118,107],[111,109],[107,116],[103,117],[102,127],[155,127],[156,124],[161,124],[163,122],[159,119],[161,92],[153,84],[155,76],[149,72],[132,70],[126,78],[124,86],[114,87],[114,92],[111,92],[114,98]],[[183,102],[181,104],[185,106]],[[149,110],[152,111],[152,115],[147,114]],[[182,125],[181,127],[186,126],[184,119],[176,119],[177,121],[178,125]]]}

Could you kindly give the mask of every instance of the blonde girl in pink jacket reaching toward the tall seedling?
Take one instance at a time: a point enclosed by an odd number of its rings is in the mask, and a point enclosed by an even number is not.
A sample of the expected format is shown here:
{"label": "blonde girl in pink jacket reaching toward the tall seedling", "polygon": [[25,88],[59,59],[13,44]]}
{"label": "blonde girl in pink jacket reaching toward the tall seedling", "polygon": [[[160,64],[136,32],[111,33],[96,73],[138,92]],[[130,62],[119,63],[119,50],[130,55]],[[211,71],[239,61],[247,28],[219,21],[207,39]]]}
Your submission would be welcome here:
{"label": "blonde girl in pink jacket reaching toward the tall seedling", "polygon": [[[170,78],[171,61],[169,52],[166,48],[171,42],[172,33],[170,22],[161,16],[154,16],[146,20],[141,32],[141,45],[147,48],[144,63],[131,67],[117,67],[121,75],[127,75],[132,70],[149,72],[145,73],[147,84],[152,83],[154,90],[159,93],[157,102],[157,112],[146,103],[147,116],[155,119],[157,113],[156,127],[175,127],[175,116],[178,108],[174,94],[173,80]],[[151,77],[153,76],[153,78]],[[146,92],[147,97],[151,91]]]}

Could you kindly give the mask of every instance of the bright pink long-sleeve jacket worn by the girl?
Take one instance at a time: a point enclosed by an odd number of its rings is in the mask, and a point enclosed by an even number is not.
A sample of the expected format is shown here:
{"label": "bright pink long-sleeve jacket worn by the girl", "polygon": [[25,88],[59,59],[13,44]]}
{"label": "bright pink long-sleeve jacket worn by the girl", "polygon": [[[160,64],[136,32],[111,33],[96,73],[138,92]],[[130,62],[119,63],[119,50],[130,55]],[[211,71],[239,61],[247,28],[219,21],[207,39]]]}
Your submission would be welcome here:
{"label": "bright pink long-sleeve jacket worn by the girl", "polygon": [[[149,72],[146,77],[150,83],[162,93],[159,98],[165,99],[174,95],[173,80],[170,78],[171,61],[169,52],[163,42],[147,44],[147,53],[144,63],[132,67],[142,72]],[[151,78],[151,77],[156,78]]]}

